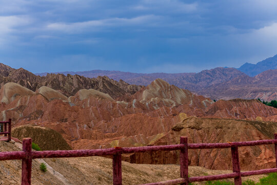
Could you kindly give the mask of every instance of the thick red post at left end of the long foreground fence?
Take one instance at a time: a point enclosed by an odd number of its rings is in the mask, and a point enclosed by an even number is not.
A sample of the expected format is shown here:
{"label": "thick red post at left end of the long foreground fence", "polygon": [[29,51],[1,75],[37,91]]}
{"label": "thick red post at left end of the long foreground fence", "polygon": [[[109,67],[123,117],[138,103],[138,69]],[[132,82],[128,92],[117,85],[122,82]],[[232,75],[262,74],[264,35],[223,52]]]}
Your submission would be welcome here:
{"label": "thick red post at left end of the long foreground fence", "polygon": [[32,173],[32,139],[23,138],[23,151],[26,154],[25,159],[22,159],[22,185],[31,185],[31,173]]}

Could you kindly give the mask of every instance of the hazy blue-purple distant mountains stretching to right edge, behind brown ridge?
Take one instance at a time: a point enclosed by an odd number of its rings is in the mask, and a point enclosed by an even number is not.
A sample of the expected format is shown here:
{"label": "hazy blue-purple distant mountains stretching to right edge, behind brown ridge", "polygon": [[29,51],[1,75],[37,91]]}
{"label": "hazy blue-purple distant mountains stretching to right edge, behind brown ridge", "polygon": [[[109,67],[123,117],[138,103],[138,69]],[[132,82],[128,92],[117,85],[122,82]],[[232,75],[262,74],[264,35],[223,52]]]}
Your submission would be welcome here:
{"label": "hazy blue-purple distant mountains stretching to right edge, behind brown ridge", "polygon": [[[216,100],[233,98],[272,100],[277,99],[277,81],[272,78],[277,74],[276,68],[277,55],[257,64],[245,63],[238,69],[217,67],[198,73],[132,73],[108,70],[55,73],[76,74],[88,78],[107,76],[113,80],[124,80],[129,84],[144,86],[161,78],[169,84]],[[45,76],[46,74],[36,75]]]}

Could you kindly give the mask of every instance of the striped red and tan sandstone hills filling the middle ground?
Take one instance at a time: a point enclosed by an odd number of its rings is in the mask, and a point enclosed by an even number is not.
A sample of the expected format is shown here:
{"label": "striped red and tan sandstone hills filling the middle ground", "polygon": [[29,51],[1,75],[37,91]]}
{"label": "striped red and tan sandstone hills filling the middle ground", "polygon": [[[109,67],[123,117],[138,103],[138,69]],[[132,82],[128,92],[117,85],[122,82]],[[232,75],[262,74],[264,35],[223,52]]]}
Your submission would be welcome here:
{"label": "striped red and tan sandstone hills filling the middle ground", "polygon": [[[16,72],[18,71],[14,71],[12,75]],[[56,77],[51,76],[54,79]],[[57,81],[52,81],[51,84],[58,86],[60,83],[69,83],[68,79],[63,81],[65,76],[60,77],[61,81],[56,79]],[[78,77],[75,78],[73,84],[78,83]],[[30,82],[29,80],[32,81],[32,76],[26,82]],[[111,87],[107,84],[103,85],[114,90],[113,84],[110,84]],[[75,90],[80,88],[78,85],[76,87]],[[130,86],[126,84],[118,88],[124,89],[123,87],[127,88],[126,91],[130,90]],[[73,149],[173,144],[179,141],[180,135],[190,136],[189,142],[257,140],[268,139],[272,137],[270,134],[277,131],[270,122],[242,121],[258,118],[275,121],[277,109],[273,107],[256,100],[220,100],[214,103],[208,98],[169,85],[161,79],[156,79],[133,95],[129,93],[128,96],[117,98],[122,101],[116,101],[105,91],[103,93],[95,89],[80,89],[70,97],[61,94],[61,91],[50,88],[48,84],[34,93],[21,85],[6,83],[0,94],[0,120],[12,118],[13,127],[33,124],[52,128],[60,133]],[[120,91],[117,91],[117,95],[120,94],[118,92]],[[185,119],[187,116],[205,119]],[[229,158],[230,154],[224,150],[200,150],[197,151],[197,156],[201,158],[190,154],[191,165],[230,169],[230,163],[220,165],[224,157]],[[123,159],[137,163],[177,163],[178,155],[174,152],[129,154]],[[268,168],[272,165],[270,147],[259,146],[242,150],[240,156],[246,158],[242,165],[245,169]],[[252,159],[255,157],[258,158]],[[251,165],[246,162],[250,158]]]}

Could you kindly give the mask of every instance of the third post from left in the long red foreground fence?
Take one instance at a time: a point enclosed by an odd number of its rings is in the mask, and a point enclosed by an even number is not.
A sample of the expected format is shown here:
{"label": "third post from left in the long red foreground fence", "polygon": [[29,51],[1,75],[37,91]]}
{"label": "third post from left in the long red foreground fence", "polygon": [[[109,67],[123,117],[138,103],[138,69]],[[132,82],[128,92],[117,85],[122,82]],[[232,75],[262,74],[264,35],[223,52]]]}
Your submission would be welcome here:
{"label": "third post from left in the long red foreground fence", "polygon": [[180,150],[180,170],[181,178],[186,180],[182,185],[188,185],[188,138],[180,137],[180,144],[184,144],[184,148]]}

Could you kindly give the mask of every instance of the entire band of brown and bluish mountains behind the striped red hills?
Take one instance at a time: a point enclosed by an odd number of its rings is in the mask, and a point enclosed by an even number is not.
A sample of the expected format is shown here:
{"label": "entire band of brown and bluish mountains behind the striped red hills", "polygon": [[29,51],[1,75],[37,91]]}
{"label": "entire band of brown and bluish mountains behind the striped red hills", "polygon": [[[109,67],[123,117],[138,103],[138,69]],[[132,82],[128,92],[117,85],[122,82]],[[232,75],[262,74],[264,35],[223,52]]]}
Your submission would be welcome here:
{"label": "entire band of brown and bluish mountains behind the striped red hills", "polygon": [[[260,70],[275,68],[275,63],[277,64],[277,55],[255,65],[251,64],[253,71],[249,71],[253,74],[254,71],[258,71],[259,66],[264,66],[260,67]],[[240,69],[247,69],[245,68],[247,65],[244,64]],[[214,100],[260,98],[270,101],[277,99],[277,69],[266,70],[254,77],[246,75],[239,69],[226,67],[217,67],[198,73],[132,73],[108,70],[55,73],[57,75],[53,73],[34,75],[23,68],[13,69],[0,64],[0,83],[3,86],[7,82],[15,82],[33,91],[45,85],[59,90],[66,96],[72,96],[82,88],[93,88],[108,93],[112,98],[117,98],[124,94],[132,95],[140,90],[141,85],[147,86],[160,78],[171,85]]]}

